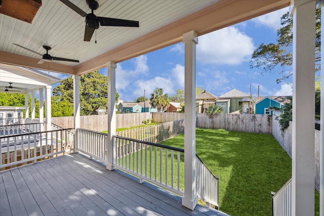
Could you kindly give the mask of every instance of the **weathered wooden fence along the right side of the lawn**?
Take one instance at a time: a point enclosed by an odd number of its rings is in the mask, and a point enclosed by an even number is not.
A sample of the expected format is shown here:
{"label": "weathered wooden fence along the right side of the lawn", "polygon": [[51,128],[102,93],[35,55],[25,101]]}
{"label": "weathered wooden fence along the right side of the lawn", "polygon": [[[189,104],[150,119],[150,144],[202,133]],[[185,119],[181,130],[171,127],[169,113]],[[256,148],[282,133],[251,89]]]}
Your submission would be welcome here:
{"label": "weathered wooden fence along the right side of the lawn", "polygon": [[[289,122],[289,127],[284,131],[280,131],[279,120],[275,119],[276,116],[272,116],[272,136],[278,141],[280,146],[292,157],[292,122]],[[320,131],[315,129],[315,188],[319,191],[319,138]]]}

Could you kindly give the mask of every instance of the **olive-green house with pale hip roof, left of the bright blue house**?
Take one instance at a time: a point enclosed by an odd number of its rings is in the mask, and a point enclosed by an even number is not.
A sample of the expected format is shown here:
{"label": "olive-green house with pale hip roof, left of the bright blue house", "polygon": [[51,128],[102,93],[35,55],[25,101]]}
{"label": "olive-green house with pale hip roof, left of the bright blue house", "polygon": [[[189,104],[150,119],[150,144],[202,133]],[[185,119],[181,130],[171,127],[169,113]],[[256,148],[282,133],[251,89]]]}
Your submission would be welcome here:
{"label": "olive-green house with pale hip roof, left of the bright blue house", "polygon": [[233,89],[218,97],[220,100],[229,100],[228,113],[250,113],[250,95]]}

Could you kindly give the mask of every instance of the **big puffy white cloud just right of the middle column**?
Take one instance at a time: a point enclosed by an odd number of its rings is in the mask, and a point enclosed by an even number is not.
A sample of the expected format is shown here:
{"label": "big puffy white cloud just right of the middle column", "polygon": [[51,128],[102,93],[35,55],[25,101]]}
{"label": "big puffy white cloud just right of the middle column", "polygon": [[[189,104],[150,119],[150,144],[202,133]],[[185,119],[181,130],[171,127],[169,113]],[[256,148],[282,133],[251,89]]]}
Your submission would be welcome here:
{"label": "big puffy white cloud just right of the middle column", "polygon": [[197,61],[203,64],[238,65],[249,61],[254,49],[253,39],[231,26],[199,37]]}

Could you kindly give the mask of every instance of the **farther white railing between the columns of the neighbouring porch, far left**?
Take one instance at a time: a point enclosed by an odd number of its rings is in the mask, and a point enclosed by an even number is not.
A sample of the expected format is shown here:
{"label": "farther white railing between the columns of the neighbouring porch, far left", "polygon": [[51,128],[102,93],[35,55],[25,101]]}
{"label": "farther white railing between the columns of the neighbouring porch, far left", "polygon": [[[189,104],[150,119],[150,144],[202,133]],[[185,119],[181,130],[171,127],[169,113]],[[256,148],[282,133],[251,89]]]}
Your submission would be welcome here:
{"label": "farther white railing between the columns of the neighbouring porch, far left", "polygon": [[46,131],[46,123],[25,123],[0,126],[0,137]]}

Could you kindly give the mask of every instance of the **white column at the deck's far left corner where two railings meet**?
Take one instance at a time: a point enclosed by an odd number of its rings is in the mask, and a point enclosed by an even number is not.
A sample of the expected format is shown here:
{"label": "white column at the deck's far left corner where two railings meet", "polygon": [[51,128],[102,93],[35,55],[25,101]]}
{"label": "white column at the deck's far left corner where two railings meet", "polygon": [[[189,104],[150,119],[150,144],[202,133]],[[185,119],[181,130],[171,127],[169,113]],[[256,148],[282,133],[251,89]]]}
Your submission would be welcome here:
{"label": "white column at the deck's far left corner where two railings meet", "polygon": [[[80,76],[73,75],[73,126],[80,127]],[[76,135],[76,132],[74,133]],[[74,152],[77,148],[77,137],[74,136]]]}

